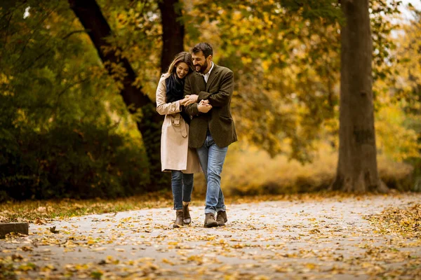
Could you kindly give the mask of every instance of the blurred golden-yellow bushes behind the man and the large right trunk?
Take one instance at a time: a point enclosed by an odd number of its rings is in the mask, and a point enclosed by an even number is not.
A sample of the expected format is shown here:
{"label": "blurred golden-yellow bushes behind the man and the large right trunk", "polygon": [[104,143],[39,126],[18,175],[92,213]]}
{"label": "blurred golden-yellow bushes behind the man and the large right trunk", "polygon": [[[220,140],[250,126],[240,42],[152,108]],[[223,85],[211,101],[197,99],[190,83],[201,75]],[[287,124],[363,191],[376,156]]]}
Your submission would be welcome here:
{"label": "blurred golden-yellow bushes behind the man and the large right trunk", "polygon": [[[394,162],[379,155],[378,171],[389,188],[399,191],[413,188],[413,166]],[[301,165],[286,156],[270,158],[264,151],[252,148],[236,149],[227,153],[222,172],[222,191],[227,195],[281,195],[312,193],[327,190],[335,180],[338,153],[321,146],[314,162]],[[194,188],[203,195],[206,183],[203,175],[194,177]]]}

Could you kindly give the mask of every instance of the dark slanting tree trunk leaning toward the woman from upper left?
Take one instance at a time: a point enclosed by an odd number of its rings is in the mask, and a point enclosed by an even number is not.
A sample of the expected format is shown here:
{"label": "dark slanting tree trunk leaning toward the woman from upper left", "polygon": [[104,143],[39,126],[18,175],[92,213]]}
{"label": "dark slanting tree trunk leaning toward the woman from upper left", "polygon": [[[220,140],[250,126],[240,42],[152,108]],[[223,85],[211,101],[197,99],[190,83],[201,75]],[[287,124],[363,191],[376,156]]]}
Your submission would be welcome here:
{"label": "dark slanting tree trunk leaning toward the woman from upper left", "polygon": [[126,70],[125,76],[118,77],[113,75],[113,78],[123,84],[120,94],[131,113],[135,113],[138,109],[142,110],[142,120],[137,125],[140,134],[142,134],[143,144],[149,160],[151,183],[147,186],[147,190],[168,188],[170,186],[170,178],[168,174],[164,175],[161,172],[160,139],[162,116],[156,113],[154,102],[142,92],[142,88],[133,85],[136,74],[128,60],[116,55],[115,50],[103,51],[104,47],[112,46],[106,40],[108,36],[112,35],[112,31],[104,15],[102,15],[98,3],[95,0],[69,0],[69,4],[83,27],[88,31],[88,35],[98,50],[98,55],[107,71],[112,74],[112,64],[119,64]]}

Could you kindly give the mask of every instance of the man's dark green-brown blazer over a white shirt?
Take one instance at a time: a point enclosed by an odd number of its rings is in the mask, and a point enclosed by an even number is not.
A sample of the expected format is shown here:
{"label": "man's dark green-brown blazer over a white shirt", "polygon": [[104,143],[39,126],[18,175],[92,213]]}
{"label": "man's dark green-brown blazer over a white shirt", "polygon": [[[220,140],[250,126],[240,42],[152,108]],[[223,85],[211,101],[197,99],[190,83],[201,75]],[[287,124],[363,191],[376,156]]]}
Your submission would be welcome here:
{"label": "man's dark green-brown blazer over a white shirt", "polygon": [[[189,146],[200,148],[206,140],[206,131],[210,130],[215,143],[226,147],[237,140],[234,120],[232,120],[231,105],[234,90],[234,74],[226,67],[213,64],[208,83],[203,76],[194,72],[185,79],[185,95],[197,94],[197,103],[185,107],[185,111],[192,116],[189,126]],[[208,113],[200,113],[197,105],[202,99],[209,100],[212,109]]]}

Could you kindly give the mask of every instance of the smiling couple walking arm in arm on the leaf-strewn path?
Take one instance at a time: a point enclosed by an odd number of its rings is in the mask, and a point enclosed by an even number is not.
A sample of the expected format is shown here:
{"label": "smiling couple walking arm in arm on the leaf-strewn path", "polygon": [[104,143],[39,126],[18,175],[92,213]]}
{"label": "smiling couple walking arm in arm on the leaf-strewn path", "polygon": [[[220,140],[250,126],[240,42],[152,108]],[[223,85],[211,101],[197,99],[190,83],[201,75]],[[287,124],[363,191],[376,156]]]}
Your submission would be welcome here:
{"label": "smiling couple walking arm in arm on the leaf-strewn path", "polygon": [[174,228],[192,221],[189,202],[193,174],[200,169],[207,184],[204,226],[227,222],[220,174],[228,146],[237,139],[229,109],[234,75],[212,60],[213,49],[208,43],[195,45],[192,54],[180,52],[156,89],[156,111],[165,115],[161,165],[163,172],[171,172]]}

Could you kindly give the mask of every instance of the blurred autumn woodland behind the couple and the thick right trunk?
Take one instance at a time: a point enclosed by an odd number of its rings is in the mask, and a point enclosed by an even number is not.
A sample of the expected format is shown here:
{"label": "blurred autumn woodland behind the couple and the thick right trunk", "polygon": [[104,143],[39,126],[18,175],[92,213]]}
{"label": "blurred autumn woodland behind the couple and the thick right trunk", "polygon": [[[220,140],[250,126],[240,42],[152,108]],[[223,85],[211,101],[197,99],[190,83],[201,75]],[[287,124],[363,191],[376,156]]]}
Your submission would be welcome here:
{"label": "blurred autumn woodland behind the couple and the thick right trunk", "polygon": [[[102,45],[89,33],[95,15],[75,13],[88,2],[109,25]],[[240,141],[222,188],[327,189],[338,163],[345,18],[338,1],[307,2],[1,1],[0,200],[170,188],[157,164],[156,84],[173,55],[199,41],[235,73]],[[377,161],[387,186],[420,190],[420,13],[397,20],[399,6],[370,1]]]}

